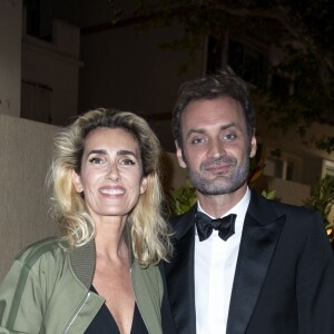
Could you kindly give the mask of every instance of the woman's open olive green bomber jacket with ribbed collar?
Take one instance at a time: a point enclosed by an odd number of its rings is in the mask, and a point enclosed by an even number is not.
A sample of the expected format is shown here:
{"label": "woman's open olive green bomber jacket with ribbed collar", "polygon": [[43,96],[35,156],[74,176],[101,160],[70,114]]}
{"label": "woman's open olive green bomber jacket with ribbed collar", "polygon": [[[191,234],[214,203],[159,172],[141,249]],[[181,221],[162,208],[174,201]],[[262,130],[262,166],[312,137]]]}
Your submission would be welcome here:
{"label": "woman's open olive green bomber jacket with ribbed collar", "polygon": [[[84,333],[104,298],[90,292],[94,240],[65,250],[56,238],[22,250],[0,285],[0,334]],[[157,266],[131,265],[136,302],[151,334],[161,334],[164,287]]]}

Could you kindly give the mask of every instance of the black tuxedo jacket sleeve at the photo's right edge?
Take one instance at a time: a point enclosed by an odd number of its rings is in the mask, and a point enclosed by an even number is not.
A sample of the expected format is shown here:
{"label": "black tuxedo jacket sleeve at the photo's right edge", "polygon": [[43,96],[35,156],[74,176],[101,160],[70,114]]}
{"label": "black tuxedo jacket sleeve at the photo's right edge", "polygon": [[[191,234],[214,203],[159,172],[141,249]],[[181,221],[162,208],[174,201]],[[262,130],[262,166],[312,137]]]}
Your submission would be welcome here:
{"label": "black tuxedo jacket sleeve at the photo's right edge", "polygon": [[299,333],[334,333],[334,257],[323,220],[311,215],[297,272]]}

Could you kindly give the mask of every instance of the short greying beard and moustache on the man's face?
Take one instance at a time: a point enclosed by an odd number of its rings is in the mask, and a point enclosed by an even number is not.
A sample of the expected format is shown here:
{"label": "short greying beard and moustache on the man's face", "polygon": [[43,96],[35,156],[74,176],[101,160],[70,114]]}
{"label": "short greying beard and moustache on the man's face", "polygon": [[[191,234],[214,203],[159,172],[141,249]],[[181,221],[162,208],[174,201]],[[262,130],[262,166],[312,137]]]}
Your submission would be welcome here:
{"label": "short greying beard and moustache on the man's face", "polygon": [[[187,166],[189,164],[186,161]],[[202,173],[191,170],[188,167],[188,176],[194,188],[203,195],[225,195],[239,189],[248,178],[249,159],[247,158],[243,165],[237,166],[237,159],[234,157],[220,157],[218,159],[209,159],[200,164],[199,170],[213,165],[228,164],[230,170],[227,175],[217,175],[214,178],[206,178]]]}

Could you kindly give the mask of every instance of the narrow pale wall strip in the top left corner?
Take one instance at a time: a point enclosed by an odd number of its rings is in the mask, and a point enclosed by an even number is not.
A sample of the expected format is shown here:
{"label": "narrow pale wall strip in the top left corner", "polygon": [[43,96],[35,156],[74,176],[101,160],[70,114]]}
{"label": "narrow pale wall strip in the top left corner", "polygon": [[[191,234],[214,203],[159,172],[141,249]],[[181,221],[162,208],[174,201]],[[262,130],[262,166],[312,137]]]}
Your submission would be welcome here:
{"label": "narrow pale wall strip in the top left corner", "polygon": [[0,114],[20,115],[22,1],[0,1]]}

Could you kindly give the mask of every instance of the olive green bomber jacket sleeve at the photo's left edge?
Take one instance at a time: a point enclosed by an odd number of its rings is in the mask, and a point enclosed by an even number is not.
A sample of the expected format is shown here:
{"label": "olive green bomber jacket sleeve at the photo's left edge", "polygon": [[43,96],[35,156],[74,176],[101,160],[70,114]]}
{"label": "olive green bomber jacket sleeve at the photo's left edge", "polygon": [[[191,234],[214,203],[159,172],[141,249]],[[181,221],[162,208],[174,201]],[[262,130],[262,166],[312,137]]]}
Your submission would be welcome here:
{"label": "olive green bomber jacket sleeve at the photo's left edge", "polygon": [[0,285],[0,333],[39,333],[45,299],[40,277],[17,259]]}

